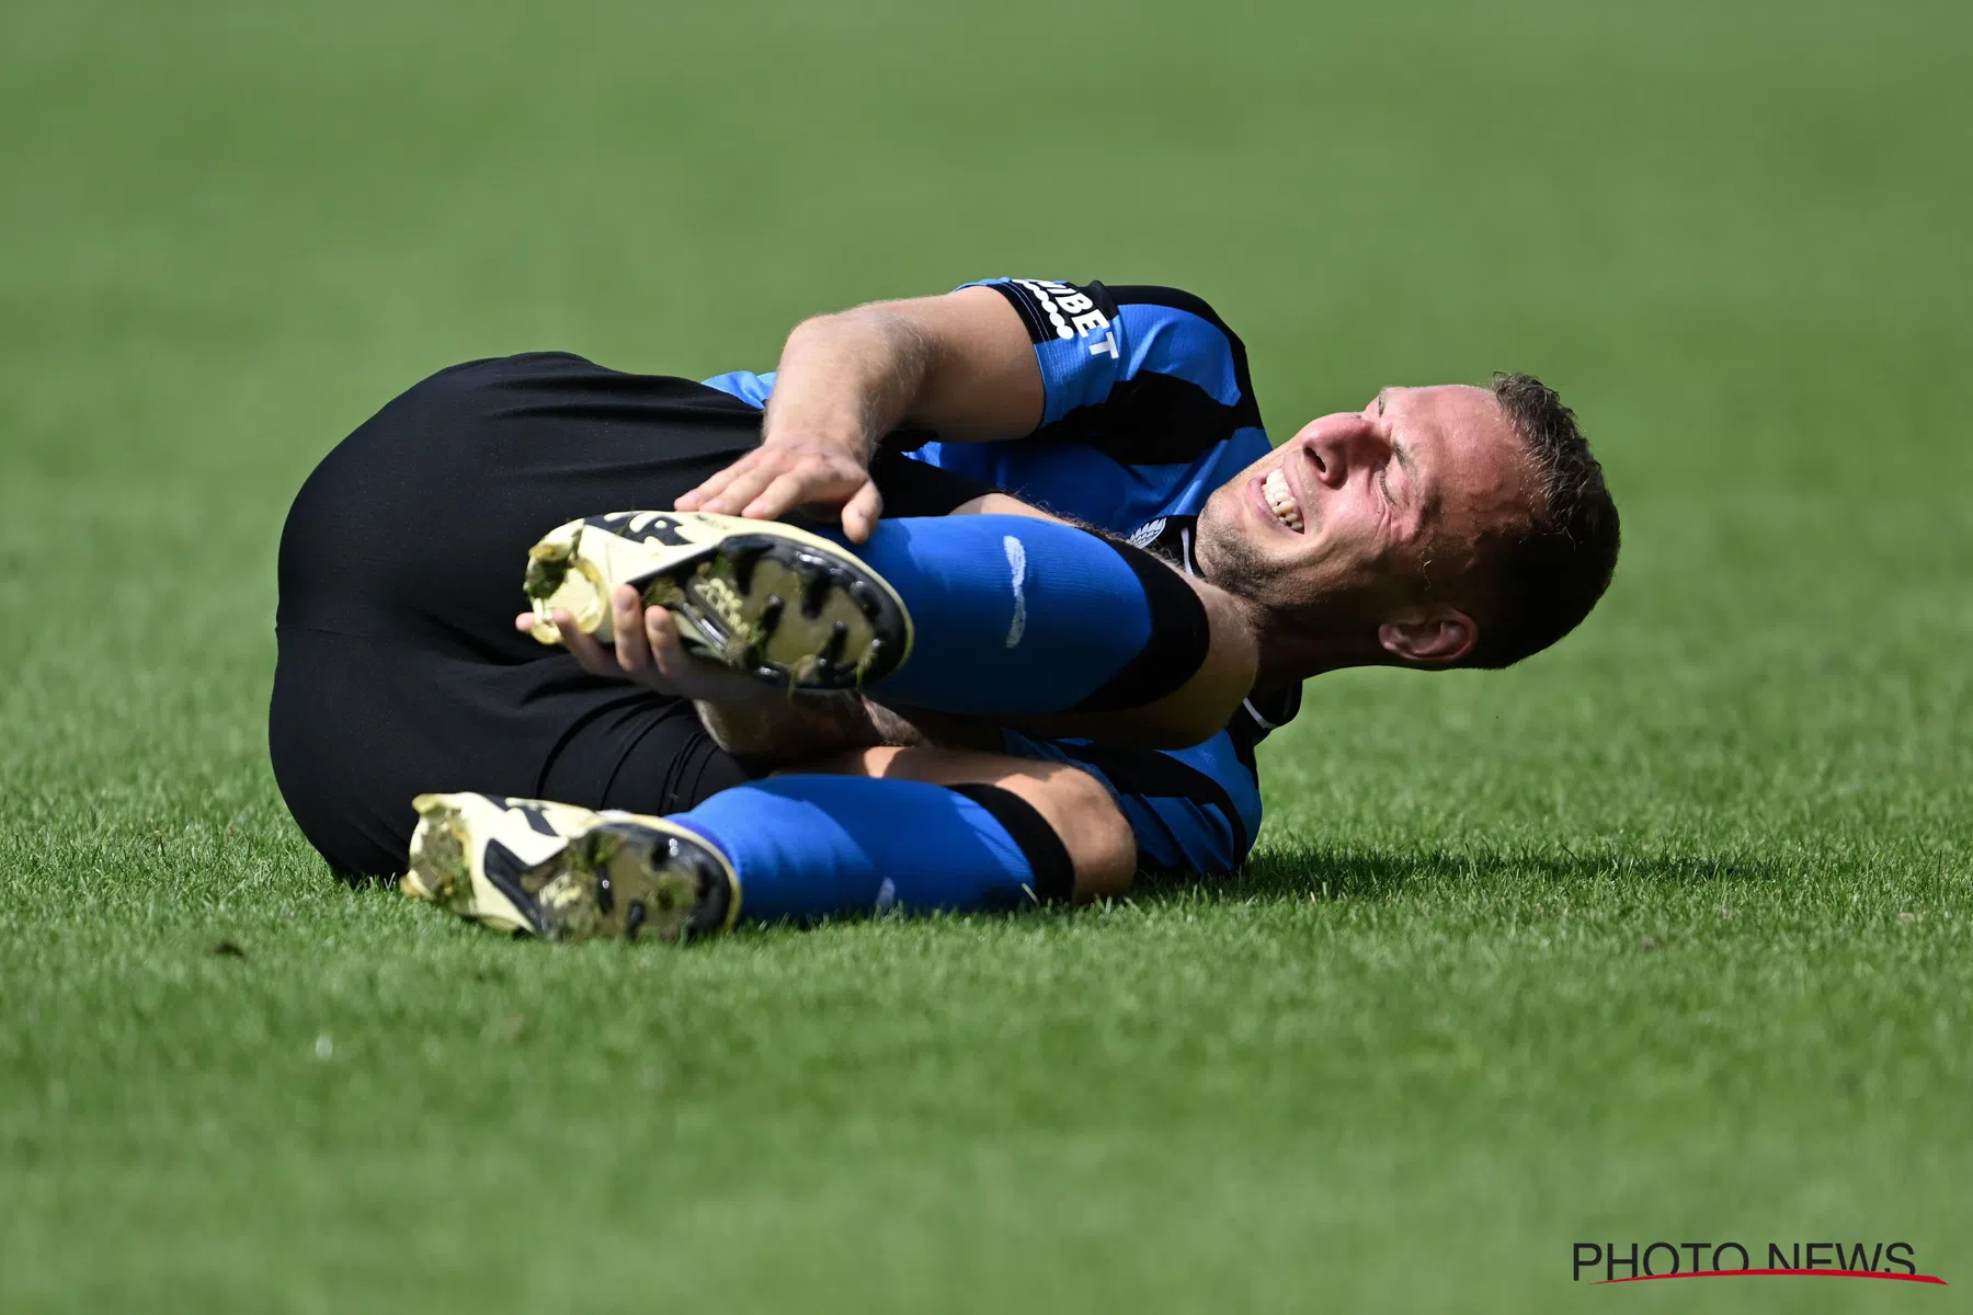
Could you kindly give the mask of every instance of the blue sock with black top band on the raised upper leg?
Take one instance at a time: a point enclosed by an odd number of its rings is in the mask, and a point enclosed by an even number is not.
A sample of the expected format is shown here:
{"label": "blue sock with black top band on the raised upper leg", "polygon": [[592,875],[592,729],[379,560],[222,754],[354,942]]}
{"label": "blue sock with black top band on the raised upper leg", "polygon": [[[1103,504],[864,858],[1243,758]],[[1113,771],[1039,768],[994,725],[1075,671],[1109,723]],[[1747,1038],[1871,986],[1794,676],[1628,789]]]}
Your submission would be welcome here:
{"label": "blue sock with black top band on the raised upper leg", "polygon": [[977,716],[1134,708],[1206,660],[1206,609],[1190,586],[1150,554],[1069,524],[906,517],[844,546],[912,613],[912,655],[872,686],[888,700]]}

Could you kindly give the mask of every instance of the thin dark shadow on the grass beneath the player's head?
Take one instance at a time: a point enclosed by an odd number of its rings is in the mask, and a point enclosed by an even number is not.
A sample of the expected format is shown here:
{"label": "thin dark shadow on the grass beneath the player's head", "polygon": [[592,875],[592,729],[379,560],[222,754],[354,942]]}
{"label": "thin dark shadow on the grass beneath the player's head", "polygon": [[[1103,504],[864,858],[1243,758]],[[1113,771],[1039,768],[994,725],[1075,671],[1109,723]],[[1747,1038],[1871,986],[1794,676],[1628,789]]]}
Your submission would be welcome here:
{"label": "thin dark shadow on the grass beneath the player's head", "polygon": [[1788,871],[1744,854],[1663,854],[1598,848],[1555,850],[1369,850],[1277,844],[1233,877],[1138,873],[1133,899],[1391,899],[1405,891],[1476,887],[1697,885],[1770,881]]}

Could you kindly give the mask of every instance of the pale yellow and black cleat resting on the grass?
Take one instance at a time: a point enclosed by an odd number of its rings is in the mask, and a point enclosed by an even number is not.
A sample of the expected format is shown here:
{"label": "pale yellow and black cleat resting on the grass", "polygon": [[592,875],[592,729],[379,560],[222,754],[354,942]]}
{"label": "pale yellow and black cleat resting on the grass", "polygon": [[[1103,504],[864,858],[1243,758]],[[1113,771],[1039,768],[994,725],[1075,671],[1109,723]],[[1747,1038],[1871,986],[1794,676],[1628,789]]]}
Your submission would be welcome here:
{"label": "pale yellow and black cleat resting on the grass", "polygon": [[740,917],[732,864],[702,836],[637,812],[499,795],[418,795],[399,889],[550,940],[685,940]]}

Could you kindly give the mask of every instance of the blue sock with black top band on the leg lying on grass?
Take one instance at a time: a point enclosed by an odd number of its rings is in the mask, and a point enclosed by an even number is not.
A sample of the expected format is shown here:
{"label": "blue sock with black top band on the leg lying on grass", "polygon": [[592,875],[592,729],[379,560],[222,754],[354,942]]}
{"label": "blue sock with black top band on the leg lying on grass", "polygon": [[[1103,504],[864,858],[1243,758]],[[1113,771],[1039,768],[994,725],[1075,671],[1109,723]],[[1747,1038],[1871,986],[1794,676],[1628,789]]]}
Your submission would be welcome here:
{"label": "blue sock with black top band on the leg lying on grass", "polygon": [[1061,840],[998,787],[769,777],[671,820],[726,854],[740,873],[740,915],[760,923],[890,907],[1016,909],[1067,899],[1073,887]]}

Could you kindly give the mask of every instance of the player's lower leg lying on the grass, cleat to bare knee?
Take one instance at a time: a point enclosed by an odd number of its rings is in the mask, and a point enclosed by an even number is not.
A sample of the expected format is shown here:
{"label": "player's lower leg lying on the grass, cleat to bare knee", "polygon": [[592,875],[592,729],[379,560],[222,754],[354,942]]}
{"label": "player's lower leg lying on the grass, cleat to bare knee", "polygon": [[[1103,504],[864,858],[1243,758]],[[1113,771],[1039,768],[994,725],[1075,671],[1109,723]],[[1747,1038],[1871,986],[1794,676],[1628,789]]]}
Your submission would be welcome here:
{"label": "player's lower leg lying on the grass, cleat to bare knee", "polygon": [[[1136,848],[1087,773],[996,753],[870,749],[669,818],[422,796],[404,889],[556,938],[681,938],[882,909],[1016,909],[1129,887]],[[874,773],[874,775],[864,775]]]}

